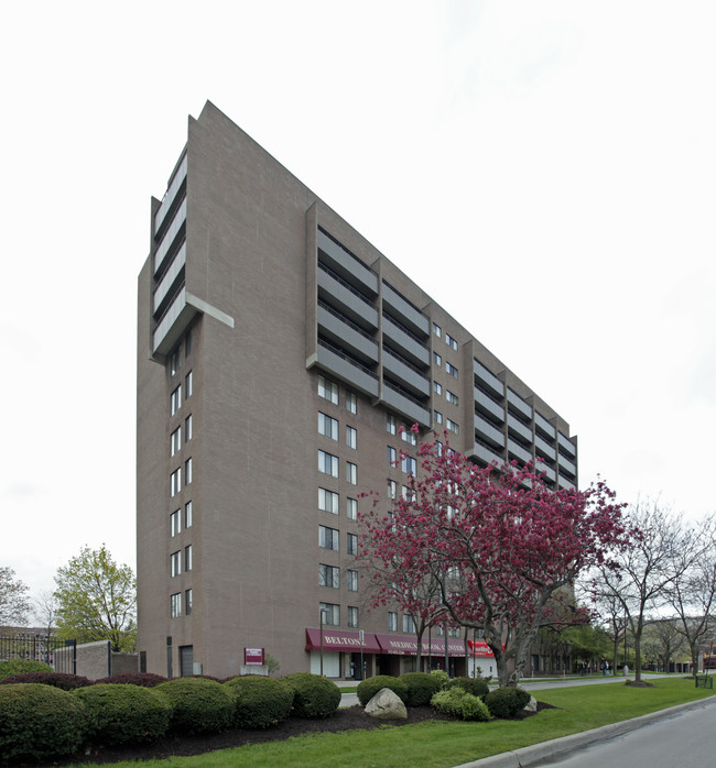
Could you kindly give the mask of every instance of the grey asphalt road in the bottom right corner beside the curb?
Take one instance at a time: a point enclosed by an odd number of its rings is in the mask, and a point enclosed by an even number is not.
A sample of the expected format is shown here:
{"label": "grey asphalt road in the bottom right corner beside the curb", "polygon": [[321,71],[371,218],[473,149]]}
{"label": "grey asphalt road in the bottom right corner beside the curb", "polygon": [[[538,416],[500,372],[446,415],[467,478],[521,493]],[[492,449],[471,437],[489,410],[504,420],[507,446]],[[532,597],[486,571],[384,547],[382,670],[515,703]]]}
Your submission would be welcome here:
{"label": "grey asphalt road in the bottom right corner beside the curb", "polygon": [[573,751],[563,760],[541,761],[560,768],[704,768],[716,765],[716,701],[643,725]]}

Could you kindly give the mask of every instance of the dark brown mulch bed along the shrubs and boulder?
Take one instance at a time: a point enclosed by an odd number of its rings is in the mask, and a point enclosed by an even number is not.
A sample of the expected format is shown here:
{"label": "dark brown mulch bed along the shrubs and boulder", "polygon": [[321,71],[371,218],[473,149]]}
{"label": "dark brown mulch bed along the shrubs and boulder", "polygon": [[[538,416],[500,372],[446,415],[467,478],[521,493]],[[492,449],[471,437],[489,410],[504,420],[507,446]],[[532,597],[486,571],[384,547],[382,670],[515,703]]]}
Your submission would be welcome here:
{"label": "dark brown mulch bed along the shrubs and boulder", "polygon": [[[551,704],[538,702],[538,712],[544,709],[552,709]],[[523,720],[532,716],[533,712],[521,712],[514,720]],[[387,724],[400,727],[413,723],[424,723],[427,721],[451,721],[436,714],[430,706],[411,706],[408,709],[408,720],[378,720],[364,712],[359,704],[349,706],[336,712],[325,720],[300,720],[290,717],[289,720],[264,729],[231,728],[219,734],[207,736],[180,736],[171,735],[161,738],[154,744],[141,747],[102,747],[93,750],[90,755],[77,755],[70,760],[53,762],[53,766],[68,766],[77,764],[97,765],[107,762],[118,762],[120,760],[149,760],[152,758],[163,759],[173,755],[202,755],[216,749],[228,747],[240,747],[243,744],[262,744],[265,742],[282,742],[292,736],[303,736],[305,734],[341,733],[356,728],[379,728]]]}

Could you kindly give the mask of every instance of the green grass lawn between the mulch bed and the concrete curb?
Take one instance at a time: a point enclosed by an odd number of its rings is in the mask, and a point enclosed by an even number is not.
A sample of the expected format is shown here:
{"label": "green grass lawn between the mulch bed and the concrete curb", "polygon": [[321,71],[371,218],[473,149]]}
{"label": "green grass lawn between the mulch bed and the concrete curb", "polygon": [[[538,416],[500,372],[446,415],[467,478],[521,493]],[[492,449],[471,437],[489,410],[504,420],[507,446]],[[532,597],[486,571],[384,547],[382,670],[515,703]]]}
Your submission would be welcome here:
{"label": "green grass lawn between the mulch bed and the concrete curb", "polygon": [[[536,691],[536,698],[560,709],[544,710],[538,716],[524,721],[434,722],[399,727],[387,725],[375,731],[302,736],[196,757],[150,760],[141,765],[181,768],[273,768],[278,765],[295,768],[448,767],[709,695],[713,695],[713,691],[696,689],[693,680],[680,678],[659,680],[650,689],[619,683],[554,689]],[[113,765],[115,768],[137,768],[138,764]]]}

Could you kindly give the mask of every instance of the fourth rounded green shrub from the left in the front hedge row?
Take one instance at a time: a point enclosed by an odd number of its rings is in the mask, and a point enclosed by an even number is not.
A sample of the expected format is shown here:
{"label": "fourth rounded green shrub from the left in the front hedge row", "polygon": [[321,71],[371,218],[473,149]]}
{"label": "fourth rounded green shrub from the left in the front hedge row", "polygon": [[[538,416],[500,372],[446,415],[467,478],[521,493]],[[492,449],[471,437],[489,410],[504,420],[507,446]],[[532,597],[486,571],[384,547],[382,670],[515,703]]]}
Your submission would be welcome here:
{"label": "fourth rounded green shrub from the left in the front hedge row", "polygon": [[247,674],[224,684],[234,694],[234,722],[240,728],[268,728],[291,713],[293,688],[283,680]]}

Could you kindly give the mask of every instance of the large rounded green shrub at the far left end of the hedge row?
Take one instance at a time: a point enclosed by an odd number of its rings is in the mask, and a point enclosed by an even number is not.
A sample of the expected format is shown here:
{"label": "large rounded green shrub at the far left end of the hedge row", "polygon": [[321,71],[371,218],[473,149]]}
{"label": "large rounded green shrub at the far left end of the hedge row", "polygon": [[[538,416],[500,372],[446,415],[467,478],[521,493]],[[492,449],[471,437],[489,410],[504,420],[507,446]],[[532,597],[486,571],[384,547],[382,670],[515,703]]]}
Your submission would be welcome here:
{"label": "large rounded green shrub at the far left end of the hedge row", "polygon": [[0,761],[64,757],[85,738],[85,707],[73,693],[40,683],[0,687]]}

